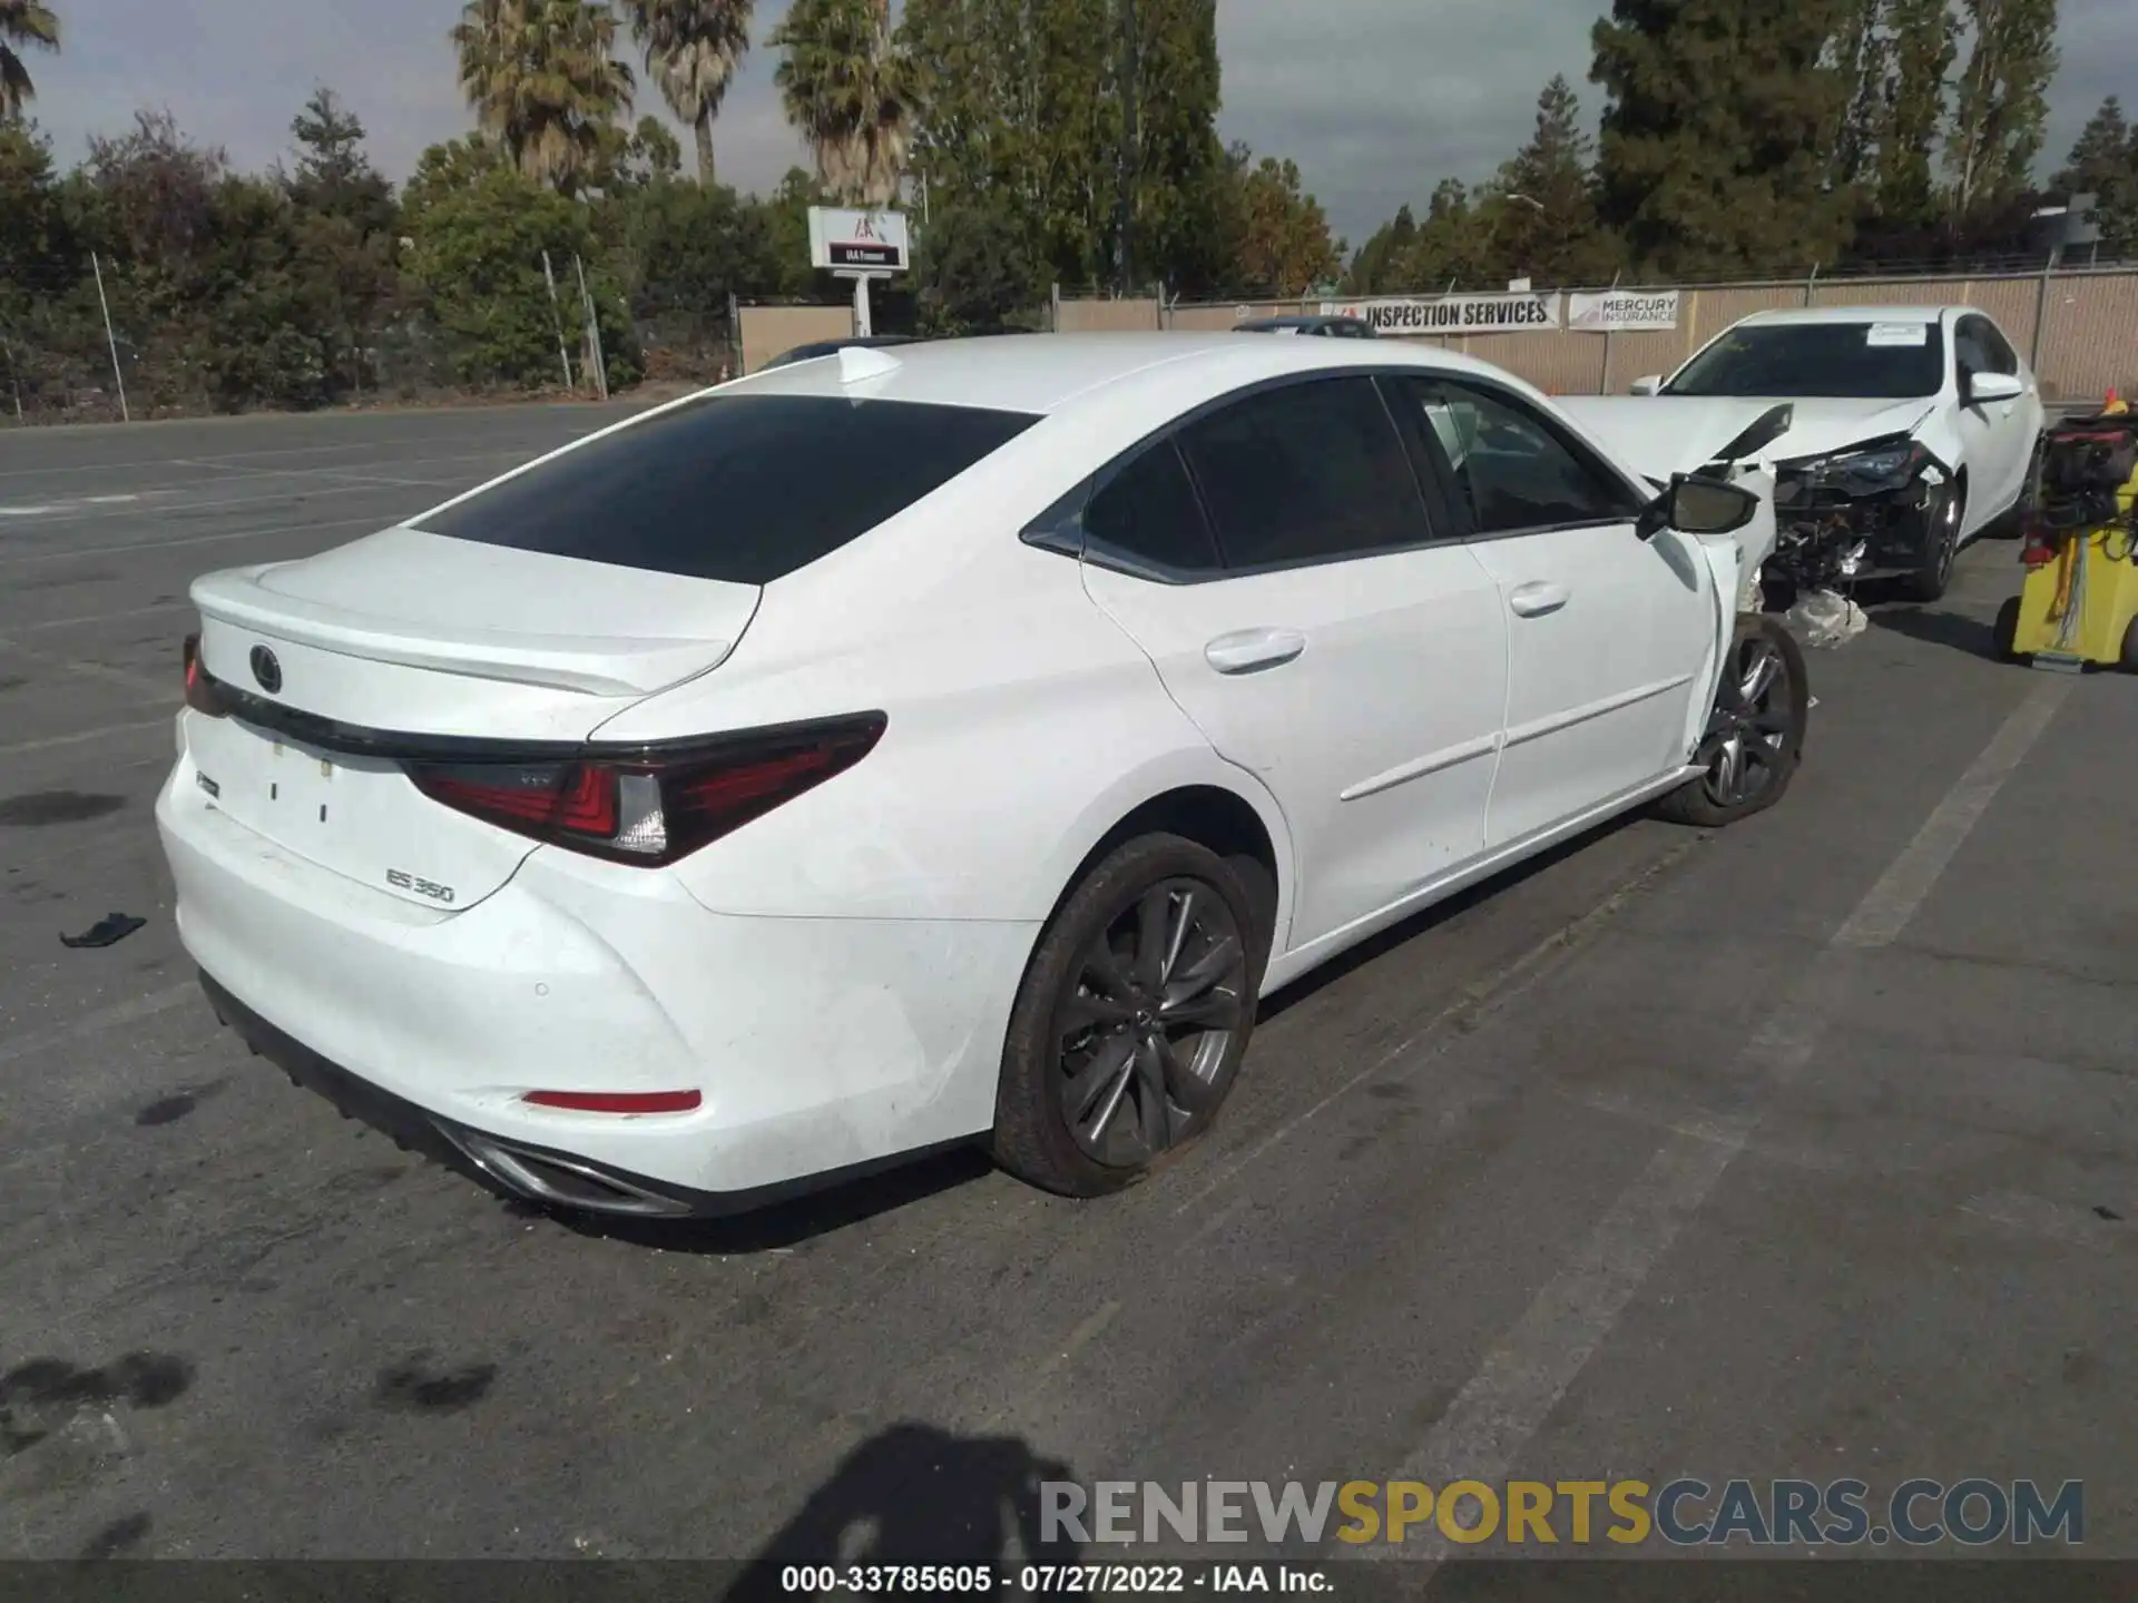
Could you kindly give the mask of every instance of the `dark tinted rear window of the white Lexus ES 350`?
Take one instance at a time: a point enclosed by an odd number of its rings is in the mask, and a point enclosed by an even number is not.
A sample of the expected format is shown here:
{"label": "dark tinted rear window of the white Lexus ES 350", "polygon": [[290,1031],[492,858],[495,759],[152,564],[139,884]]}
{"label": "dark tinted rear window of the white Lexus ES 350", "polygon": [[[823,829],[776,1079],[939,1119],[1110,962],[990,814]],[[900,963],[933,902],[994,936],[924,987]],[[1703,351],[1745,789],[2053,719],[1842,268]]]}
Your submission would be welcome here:
{"label": "dark tinted rear window of the white Lexus ES 350", "polygon": [[1039,419],[830,395],[712,395],[590,440],[417,528],[691,579],[772,583]]}

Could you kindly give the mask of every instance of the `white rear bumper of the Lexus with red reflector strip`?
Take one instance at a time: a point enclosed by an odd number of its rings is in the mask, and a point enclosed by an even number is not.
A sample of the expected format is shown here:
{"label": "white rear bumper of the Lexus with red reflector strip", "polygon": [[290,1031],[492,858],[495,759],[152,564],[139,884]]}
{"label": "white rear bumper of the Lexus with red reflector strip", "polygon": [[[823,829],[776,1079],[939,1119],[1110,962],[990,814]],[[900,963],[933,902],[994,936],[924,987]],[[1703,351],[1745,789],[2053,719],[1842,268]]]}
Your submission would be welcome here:
{"label": "white rear bumper of the Lexus with red reflector strip", "polygon": [[[156,825],[218,1013],[507,1190],[718,1214],[992,1124],[1028,925],[727,917],[665,872],[556,849],[472,906],[421,908],[233,823],[184,754]],[[701,1105],[579,1114],[528,1090]]]}

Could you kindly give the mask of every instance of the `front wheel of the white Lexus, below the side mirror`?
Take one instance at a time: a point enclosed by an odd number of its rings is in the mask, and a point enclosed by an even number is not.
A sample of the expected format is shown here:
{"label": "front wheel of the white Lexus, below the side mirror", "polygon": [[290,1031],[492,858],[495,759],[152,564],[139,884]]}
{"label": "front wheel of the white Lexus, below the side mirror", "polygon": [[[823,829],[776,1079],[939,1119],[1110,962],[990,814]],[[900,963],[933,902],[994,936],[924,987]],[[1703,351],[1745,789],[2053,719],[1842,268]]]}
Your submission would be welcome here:
{"label": "front wheel of the white Lexus, below the side mirror", "polygon": [[[1772,680],[1745,688],[1753,669],[1775,663]],[[1719,829],[1781,802],[1804,757],[1811,725],[1811,675],[1796,637],[1772,618],[1740,613],[1708,731],[1693,752],[1700,778],[1655,804],[1670,823]],[[1732,765],[1730,750],[1736,742]],[[1757,769],[1757,782],[1751,782]]]}

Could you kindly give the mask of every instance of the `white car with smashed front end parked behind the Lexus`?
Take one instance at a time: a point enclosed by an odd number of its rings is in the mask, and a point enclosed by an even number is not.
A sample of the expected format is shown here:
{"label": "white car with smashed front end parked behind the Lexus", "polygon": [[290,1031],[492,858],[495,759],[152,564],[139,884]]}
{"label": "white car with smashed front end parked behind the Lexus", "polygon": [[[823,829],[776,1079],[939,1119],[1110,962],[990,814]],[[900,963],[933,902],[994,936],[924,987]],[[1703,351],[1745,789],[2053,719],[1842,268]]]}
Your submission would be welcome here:
{"label": "white car with smashed front end parked behind the Lexus", "polygon": [[[2014,515],[2033,477],[2042,393],[1995,321],[1969,306],[1832,306],[1760,312],[1732,325],[1668,380],[1582,402],[1614,440],[1710,438],[1790,402],[1768,442],[1779,547],[1768,592],[1896,579],[1937,601],[1961,547]],[[1700,425],[1693,425],[1700,419]]]}

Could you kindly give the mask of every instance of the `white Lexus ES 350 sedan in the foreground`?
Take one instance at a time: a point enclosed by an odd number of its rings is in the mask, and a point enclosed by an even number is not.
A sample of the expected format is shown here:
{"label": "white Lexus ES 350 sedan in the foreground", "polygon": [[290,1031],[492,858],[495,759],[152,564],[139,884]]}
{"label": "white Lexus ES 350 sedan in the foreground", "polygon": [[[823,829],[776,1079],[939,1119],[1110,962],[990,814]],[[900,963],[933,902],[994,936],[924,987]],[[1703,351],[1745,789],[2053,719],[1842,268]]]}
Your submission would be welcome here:
{"label": "white Lexus ES 350 sedan in the foreground", "polygon": [[1642,466],[1394,342],[757,374],[199,579],[177,928],[254,1049],[547,1205],[975,1139],[1105,1193],[1257,998],[1612,814],[1781,797],[1772,513]]}

